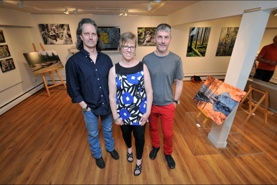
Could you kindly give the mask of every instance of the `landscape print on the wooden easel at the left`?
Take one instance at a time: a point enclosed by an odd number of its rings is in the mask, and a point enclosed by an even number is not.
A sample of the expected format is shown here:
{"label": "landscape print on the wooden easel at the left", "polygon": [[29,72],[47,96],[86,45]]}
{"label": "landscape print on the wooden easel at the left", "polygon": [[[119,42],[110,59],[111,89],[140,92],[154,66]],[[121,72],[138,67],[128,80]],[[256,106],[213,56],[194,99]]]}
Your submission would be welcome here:
{"label": "landscape print on the wooden easel at the left", "polygon": [[34,74],[63,68],[55,50],[23,53]]}

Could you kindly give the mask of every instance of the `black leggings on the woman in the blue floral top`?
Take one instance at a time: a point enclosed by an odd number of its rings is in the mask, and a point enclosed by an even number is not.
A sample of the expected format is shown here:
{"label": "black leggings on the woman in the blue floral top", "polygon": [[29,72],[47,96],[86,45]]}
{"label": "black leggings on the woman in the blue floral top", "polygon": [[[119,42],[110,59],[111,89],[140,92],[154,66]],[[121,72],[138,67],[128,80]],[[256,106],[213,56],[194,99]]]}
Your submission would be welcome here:
{"label": "black leggings on the woman in the blue floral top", "polygon": [[144,133],[146,124],[141,125],[120,125],[123,139],[128,148],[132,147],[132,131],[135,138],[136,145],[136,159],[140,160],[144,147]]}

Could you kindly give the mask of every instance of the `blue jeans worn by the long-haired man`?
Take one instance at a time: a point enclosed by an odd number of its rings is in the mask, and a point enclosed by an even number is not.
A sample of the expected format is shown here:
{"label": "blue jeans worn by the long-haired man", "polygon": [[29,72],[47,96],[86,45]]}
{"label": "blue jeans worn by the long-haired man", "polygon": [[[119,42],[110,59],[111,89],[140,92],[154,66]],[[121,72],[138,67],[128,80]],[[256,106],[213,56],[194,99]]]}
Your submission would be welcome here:
{"label": "blue jeans worn by the long-haired man", "polygon": [[[82,111],[87,128],[87,138],[89,140],[90,150],[94,158],[98,159],[102,156],[100,140],[98,137],[98,118],[91,111]],[[103,137],[107,151],[113,151],[115,140],[113,138],[113,114],[100,115],[103,128]]]}

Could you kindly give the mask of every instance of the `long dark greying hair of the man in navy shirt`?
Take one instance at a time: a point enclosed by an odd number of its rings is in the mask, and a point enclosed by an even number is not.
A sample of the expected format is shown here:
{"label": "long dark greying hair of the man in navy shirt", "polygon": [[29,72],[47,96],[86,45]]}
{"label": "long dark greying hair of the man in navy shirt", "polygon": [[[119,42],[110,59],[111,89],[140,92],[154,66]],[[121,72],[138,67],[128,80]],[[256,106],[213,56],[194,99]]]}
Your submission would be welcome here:
{"label": "long dark greying hair of the man in navy shirt", "polygon": [[78,23],[78,28],[76,30],[76,37],[77,37],[76,48],[78,50],[81,50],[84,47],[83,40],[80,37],[80,35],[82,34],[82,31],[83,31],[83,24],[92,24],[93,26],[95,26],[96,32],[97,32],[97,35],[98,35],[96,49],[98,51],[102,51],[104,49],[104,43],[100,39],[100,36],[101,36],[100,31],[99,31],[96,23],[93,20],[91,20],[90,18],[82,18],[82,20]]}

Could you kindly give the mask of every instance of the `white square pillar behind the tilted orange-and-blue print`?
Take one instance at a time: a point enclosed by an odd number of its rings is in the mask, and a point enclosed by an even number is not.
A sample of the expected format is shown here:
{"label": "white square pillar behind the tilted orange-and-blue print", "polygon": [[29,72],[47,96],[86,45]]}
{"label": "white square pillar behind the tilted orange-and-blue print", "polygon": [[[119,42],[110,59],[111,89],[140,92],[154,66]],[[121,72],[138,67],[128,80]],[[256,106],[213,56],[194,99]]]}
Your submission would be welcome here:
{"label": "white square pillar behind the tilted orange-and-blue print", "polygon": [[[263,38],[269,15],[270,10],[248,12],[242,15],[242,21],[239,26],[239,31],[224,80],[225,83],[244,90]],[[213,141],[215,146],[224,143],[223,147],[226,147],[226,136],[229,135],[236,112],[237,107],[224,121],[224,123],[229,126],[227,133],[217,132],[219,131],[218,129],[212,129],[209,133],[208,137],[219,138],[218,141]]]}

